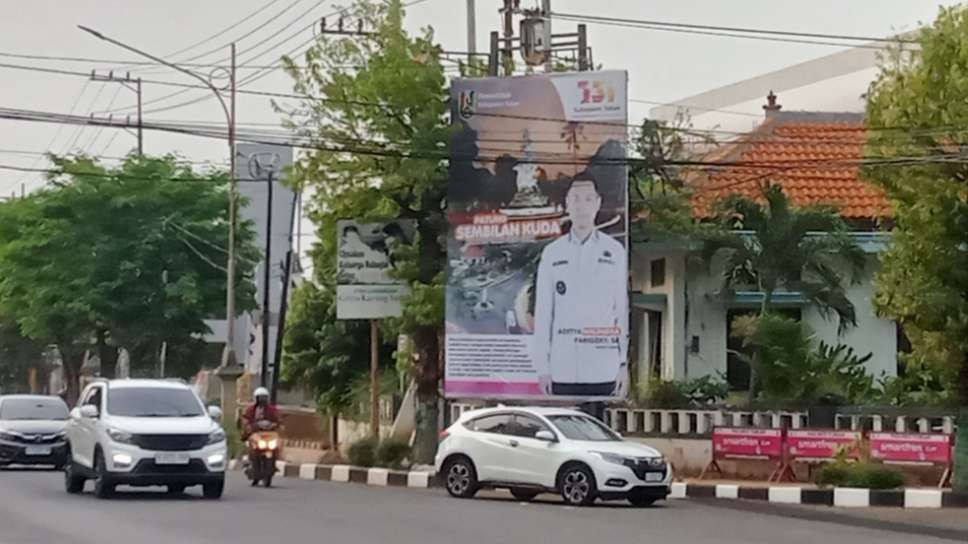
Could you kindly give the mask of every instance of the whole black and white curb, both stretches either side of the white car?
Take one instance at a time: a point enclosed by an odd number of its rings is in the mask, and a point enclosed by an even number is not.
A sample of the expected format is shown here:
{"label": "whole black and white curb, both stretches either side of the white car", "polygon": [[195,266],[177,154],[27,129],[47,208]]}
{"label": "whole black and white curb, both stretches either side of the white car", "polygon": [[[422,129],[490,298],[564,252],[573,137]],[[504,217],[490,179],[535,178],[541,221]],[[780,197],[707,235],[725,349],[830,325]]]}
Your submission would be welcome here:
{"label": "whole black and white curb, both stretches either side of the white car", "polygon": [[[229,462],[229,470],[241,468]],[[276,474],[300,480],[359,483],[380,487],[427,489],[437,485],[429,471],[402,471],[385,468],[363,468],[350,465],[292,464],[276,461]],[[805,504],[841,508],[966,508],[968,495],[940,489],[897,489],[877,491],[835,487],[771,486],[753,487],[735,484],[673,483],[669,499],[721,499],[765,501],[773,504]]]}

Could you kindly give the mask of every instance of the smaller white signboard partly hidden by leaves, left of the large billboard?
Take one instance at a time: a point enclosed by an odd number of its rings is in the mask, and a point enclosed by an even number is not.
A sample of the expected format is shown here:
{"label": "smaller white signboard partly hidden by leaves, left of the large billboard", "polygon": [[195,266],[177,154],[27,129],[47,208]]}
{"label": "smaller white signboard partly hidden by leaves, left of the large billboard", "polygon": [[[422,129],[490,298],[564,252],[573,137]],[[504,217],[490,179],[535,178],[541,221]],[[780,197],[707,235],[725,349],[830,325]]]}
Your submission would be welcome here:
{"label": "smaller white signboard partly hidden by leaves, left of the large billboard", "polygon": [[391,249],[394,243],[413,242],[415,222],[341,220],[336,228],[336,317],[398,317],[403,311],[403,298],[410,291],[405,282],[393,277]]}

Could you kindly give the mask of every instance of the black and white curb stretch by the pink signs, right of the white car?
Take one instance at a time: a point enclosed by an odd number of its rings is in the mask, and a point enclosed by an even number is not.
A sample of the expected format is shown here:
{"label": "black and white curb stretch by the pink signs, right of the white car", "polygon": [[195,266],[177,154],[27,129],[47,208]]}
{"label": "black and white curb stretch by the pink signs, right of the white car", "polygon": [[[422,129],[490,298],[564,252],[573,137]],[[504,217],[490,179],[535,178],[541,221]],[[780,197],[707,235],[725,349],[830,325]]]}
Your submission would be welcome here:
{"label": "black and white curb stretch by the pink signs, right of the white car", "polygon": [[797,486],[746,487],[731,484],[674,483],[670,499],[725,499],[766,501],[774,504],[810,504],[841,508],[965,508],[968,495],[940,489],[878,491],[835,487],[816,489]]}

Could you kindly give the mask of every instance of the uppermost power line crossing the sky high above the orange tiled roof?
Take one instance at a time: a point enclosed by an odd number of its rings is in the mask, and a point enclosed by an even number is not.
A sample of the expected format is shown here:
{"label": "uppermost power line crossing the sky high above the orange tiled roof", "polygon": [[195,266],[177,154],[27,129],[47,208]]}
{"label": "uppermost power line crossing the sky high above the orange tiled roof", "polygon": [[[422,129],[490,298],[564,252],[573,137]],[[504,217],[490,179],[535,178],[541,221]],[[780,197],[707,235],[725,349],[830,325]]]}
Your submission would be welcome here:
{"label": "uppermost power line crossing the sky high above the orange tiled roof", "polygon": [[[703,34],[712,34],[712,32],[717,32],[721,34],[712,35],[722,35],[728,37],[739,37],[739,38],[755,38],[757,36],[745,36],[742,34],[760,35],[759,38],[764,36],[791,36],[795,38],[819,38],[821,40],[844,40],[844,41],[860,41],[868,43],[887,43],[887,44],[920,44],[918,40],[912,40],[908,38],[895,37],[895,38],[874,38],[869,36],[855,36],[855,35],[845,35],[845,34],[825,34],[819,32],[795,32],[795,31],[784,31],[784,30],[772,30],[772,29],[762,29],[762,28],[743,28],[743,27],[730,27],[730,26],[715,26],[715,25],[700,25],[693,23],[672,23],[667,21],[651,21],[644,19],[629,19],[629,18],[618,18],[618,17],[603,17],[598,15],[582,15],[573,13],[552,13],[552,17],[557,17],[559,19],[570,20],[570,21],[583,21],[589,23],[605,24],[605,25],[616,25],[616,26],[639,26],[642,28],[648,28],[651,30],[680,30],[680,31],[704,31]],[[700,33],[700,32],[696,32]],[[791,41],[791,40],[778,40],[778,41]],[[796,43],[815,43],[818,45],[838,45],[845,46],[846,44],[822,42],[822,41],[798,41]]]}

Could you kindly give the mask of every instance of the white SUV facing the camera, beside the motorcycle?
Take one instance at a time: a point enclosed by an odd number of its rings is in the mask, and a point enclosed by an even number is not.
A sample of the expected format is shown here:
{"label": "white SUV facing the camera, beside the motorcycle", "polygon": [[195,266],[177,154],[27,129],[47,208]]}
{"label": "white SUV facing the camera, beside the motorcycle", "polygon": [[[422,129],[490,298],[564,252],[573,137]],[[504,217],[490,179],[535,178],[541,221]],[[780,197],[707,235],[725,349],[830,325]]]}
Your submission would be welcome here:
{"label": "white SUV facing the camera, beside the motorcycle", "polygon": [[206,498],[220,498],[228,453],[219,417],[183,383],[92,383],[67,425],[67,492],[80,493],[94,480],[100,498],[118,485],[167,486],[172,493],[201,485]]}

